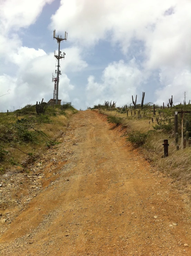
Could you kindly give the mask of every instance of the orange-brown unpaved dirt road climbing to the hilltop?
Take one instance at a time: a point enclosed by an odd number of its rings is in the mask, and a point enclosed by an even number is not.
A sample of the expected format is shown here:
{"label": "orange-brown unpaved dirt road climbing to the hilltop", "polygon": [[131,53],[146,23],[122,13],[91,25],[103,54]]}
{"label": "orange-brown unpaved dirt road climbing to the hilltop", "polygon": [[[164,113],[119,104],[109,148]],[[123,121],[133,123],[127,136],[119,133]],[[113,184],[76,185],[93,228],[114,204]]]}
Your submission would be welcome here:
{"label": "orange-brown unpaved dirt road climbing to the hilltop", "polygon": [[42,159],[44,189],[7,225],[0,255],[191,255],[186,197],[111,127],[95,111],[71,117],[64,143]]}

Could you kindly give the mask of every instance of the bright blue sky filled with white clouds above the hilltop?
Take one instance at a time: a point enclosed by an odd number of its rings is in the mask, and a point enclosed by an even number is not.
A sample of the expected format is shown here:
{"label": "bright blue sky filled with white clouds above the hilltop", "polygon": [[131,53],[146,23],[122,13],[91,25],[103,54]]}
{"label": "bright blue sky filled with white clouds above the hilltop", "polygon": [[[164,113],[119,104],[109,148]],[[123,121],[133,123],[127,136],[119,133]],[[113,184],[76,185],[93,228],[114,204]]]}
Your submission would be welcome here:
{"label": "bright blue sky filled with white clouds above the hilltop", "polygon": [[86,109],[191,99],[190,0],[0,0],[0,111],[53,97],[58,52],[68,40],[59,99]]}

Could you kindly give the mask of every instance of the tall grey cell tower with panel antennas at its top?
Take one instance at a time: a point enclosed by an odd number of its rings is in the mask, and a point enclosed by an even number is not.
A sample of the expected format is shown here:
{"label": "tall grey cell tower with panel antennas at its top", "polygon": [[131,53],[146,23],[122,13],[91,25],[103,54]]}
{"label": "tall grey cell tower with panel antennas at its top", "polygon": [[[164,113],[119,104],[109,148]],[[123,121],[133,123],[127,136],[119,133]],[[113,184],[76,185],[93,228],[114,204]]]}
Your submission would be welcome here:
{"label": "tall grey cell tower with panel antennas at its top", "polygon": [[61,75],[60,70],[59,70],[59,60],[64,58],[66,53],[63,52],[63,54],[61,54],[60,51],[60,42],[62,42],[63,40],[67,40],[68,37],[68,33],[66,33],[65,31],[65,38],[63,38],[61,35],[57,35],[56,36],[56,30],[54,30],[54,34],[53,34],[54,39],[56,38],[57,43],[58,43],[58,54],[54,51],[54,56],[55,58],[57,58],[58,60],[58,65],[56,65],[57,70],[55,70],[55,73],[57,74],[57,78],[55,78],[52,74],[52,82],[55,82],[55,88],[54,88],[54,99],[56,98],[56,105],[58,104],[58,83],[59,83],[59,75]]}

